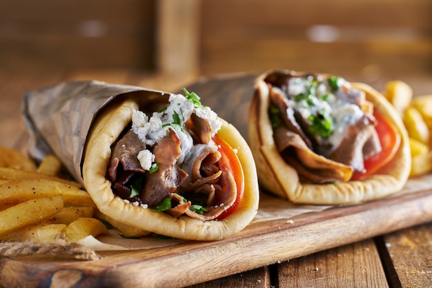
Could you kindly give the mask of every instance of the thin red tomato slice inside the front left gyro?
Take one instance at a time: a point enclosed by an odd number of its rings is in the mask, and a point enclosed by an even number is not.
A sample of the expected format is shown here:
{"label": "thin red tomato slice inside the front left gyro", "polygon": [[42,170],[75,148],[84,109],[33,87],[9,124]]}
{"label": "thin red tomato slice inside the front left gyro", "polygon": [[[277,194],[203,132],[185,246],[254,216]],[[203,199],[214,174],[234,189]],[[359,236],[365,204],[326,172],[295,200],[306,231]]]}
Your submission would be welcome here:
{"label": "thin red tomato slice inside the front left gyro", "polygon": [[237,197],[235,198],[235,202],[231,207],[226,209],[221,215],[219,215],[219,217],[217,217],[217,220],[222,220],[234,212],[243,198],[244,173],[239,158],[233,148],[230,147],[230,145],[228,145],[228,143],[226,143],[222,138],[217,136],[217,134],[213,137],[213,141],[217,145],[219,152],[222,154],[222,157],[219,160],[219,168],[230,170],[237,185]]}

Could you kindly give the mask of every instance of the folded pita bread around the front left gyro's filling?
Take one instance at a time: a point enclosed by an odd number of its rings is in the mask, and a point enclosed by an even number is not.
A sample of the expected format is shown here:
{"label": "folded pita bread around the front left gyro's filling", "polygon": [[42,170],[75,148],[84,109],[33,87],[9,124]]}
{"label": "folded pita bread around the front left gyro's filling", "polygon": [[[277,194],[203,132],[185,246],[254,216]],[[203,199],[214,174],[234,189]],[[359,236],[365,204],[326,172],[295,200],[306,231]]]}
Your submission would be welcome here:
{"label": "folded pita bread around the front left gyro's filling", "polygon": [[168,105],[168,101],[162,98],[112,101],[97,114],[88,134],[83,158],[82,174],[86,189],[102,214],[137,229],[188,240],[219,240],[236,234],[255,217],[259,189],[250,148],[235,127],[223,119],[220,119],[222,128],[217,135],[237,151],[244,172],[244,196],[232,214],[222,220],[200,220],[186,215],[176,218],[166,212],[128,203],[113,193],[112,183],[106,178],[112,144],[130,125],[133,110],[144,106],[148,109],[153,102]]}

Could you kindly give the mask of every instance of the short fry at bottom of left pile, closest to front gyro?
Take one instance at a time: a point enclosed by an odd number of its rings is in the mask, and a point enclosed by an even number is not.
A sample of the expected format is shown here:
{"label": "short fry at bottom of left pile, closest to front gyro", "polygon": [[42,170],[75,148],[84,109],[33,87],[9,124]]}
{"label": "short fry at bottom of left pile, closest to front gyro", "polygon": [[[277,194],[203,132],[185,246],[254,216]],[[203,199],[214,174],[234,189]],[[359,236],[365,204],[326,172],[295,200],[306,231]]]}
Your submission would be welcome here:
{"label": "short fry at bottom of left pile, closest to front gyro", "polygon": [[64,236],[69,242],[77,242],[89,235],[108,234],[108,229],[96,218],[79,218],[70,223],[64,230]]}

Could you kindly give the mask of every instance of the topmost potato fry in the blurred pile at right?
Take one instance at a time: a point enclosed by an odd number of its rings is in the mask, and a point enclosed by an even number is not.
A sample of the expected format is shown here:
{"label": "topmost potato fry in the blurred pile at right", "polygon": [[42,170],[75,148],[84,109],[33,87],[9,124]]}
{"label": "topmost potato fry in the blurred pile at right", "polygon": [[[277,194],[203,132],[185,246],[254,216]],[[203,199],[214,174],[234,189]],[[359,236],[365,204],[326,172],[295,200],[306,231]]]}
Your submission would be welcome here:
{"label": "topmost potato fry in the blurred pile at right", "polygon": [[411,86],[400,80],[387,82],[383,94],[400,116],[404,114],[404,111],[411,103],[411,99],[413,99]]}

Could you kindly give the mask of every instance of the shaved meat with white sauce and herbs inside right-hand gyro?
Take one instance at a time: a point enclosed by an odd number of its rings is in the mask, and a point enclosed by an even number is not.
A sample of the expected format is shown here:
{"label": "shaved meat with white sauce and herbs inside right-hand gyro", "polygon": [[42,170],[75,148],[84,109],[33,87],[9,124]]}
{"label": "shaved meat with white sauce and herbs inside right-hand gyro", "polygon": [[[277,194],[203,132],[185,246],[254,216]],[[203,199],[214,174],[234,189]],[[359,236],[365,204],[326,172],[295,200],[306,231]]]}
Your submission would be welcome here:
{"label": "shaved meat with white sauce and herbs inside right-hand gyro", "polygon": [[275,73],[265,81],[269,116],[277,110],[281,119],[277,125],[273,121],[275,145],[302,176],[320,183],[348,181],[352,172],[364,172],[365,159],[381,151],[373,105],[344,79]]}

